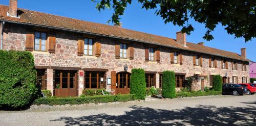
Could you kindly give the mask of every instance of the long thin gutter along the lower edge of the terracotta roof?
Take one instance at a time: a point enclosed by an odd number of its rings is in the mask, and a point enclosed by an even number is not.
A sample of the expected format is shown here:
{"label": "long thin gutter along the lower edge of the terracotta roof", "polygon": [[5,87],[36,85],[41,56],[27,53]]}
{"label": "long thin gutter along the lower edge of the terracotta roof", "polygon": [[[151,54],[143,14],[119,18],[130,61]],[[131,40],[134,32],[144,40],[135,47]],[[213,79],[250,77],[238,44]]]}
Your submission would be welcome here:
{"label": "long thin gutter along the lower edge of the terracotta roof", "polygon": [[[83,31],[71,30],[71,29],[67,29],[67,28],[56,28],[56,27],[42,26],[42,25],[38,25],[38,24],[30,24],[30,23],[23,23],[23,22],[10,21],[10,20],[3,20],[3,22],[16,23],[16,24],[23,24],[23,25],[27,25],[27,26],[43,27],[43,28],[49,28],[49,29],[67,31],[67,32],[76,32],[76,33],[83,33],[83,34],[89,34],[89,35],[97,35],[97,36],[109,37],[109,38],[114,38],[114,39],[122,39],[122,40],[136,41],[136,42],[141,42],[141,43],[146,43],[146,44],[154,44],[154,45],[160,45],[160,46],[165,46],[165,47],[178,48],[178,49],[182,49],[182,50],[185,50],[185,51],[191,51],[191,52],[202,53],[202,52],[194,51],[194,50],[191,50],[191,49],[184,49],[184,48],[180,48],[180,47],[176,47],[176,46],[164,45],[164,44],[159,44],[159,43],[155,43],[155,42],[148,42],[148,41],[141,41],[141,40],[136,40],[136,39],[115,37],[115,36],[103,35],[103,34],[97,34],[97,33],[91,33],[91,32],[83,32]],[[1,47],[2,47],[2,46],[1,46]],[[223,57],[223,56],[221,56],[221,55],[210,54],[210,53],[202,53],[202,54],[208,54],[208,55]],[[224,57],[224,58],[234,59],[234,58],[231,58],[231,57]],[[240,60],[240,59],[236,59],[236,60]],[[246,60],[240,60],[240,61],[246,61]],[[249,62],[249,61],[246,61],[246,62]]]}

